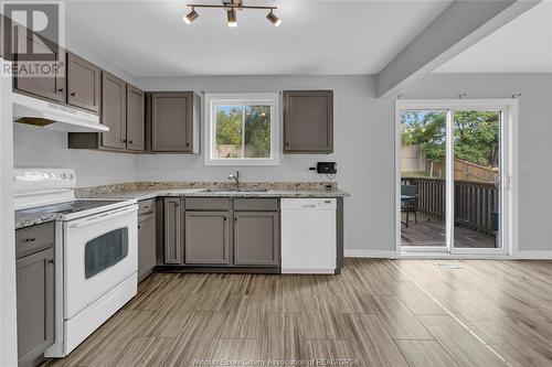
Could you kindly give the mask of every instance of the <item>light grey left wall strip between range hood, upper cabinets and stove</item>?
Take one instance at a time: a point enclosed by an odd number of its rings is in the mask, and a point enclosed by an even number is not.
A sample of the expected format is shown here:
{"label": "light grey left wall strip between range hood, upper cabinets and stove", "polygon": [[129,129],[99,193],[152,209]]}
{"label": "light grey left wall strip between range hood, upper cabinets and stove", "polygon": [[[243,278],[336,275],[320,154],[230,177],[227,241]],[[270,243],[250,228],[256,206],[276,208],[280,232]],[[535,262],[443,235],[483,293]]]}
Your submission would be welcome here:
{"label": "light grey left wall strip between range hood, upper cabinets and stove", "polygon": [[13,125],[17,168],[74,169],[77,186],[135,181],[135,155],[67,149],[67,133],[29,125]]}

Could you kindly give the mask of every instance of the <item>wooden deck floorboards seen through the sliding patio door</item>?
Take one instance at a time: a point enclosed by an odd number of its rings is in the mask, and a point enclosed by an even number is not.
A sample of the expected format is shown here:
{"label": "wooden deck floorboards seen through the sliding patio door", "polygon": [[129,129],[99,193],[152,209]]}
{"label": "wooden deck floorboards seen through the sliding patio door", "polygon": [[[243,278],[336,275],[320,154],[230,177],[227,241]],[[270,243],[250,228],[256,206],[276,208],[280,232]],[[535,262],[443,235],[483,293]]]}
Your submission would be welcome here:
{"label": "wooden deck floorboards seen through the sliding patio door", "polygon": [[[410,216],[408,228],[401,225],[401,240],[403,246],[445,246],[445,222],[417,215]],[[402,220],[405,220],[404,214]],[[465,227],[455,227],[454,242],[457,248],[495,248],[495,236],[471,230]]]}

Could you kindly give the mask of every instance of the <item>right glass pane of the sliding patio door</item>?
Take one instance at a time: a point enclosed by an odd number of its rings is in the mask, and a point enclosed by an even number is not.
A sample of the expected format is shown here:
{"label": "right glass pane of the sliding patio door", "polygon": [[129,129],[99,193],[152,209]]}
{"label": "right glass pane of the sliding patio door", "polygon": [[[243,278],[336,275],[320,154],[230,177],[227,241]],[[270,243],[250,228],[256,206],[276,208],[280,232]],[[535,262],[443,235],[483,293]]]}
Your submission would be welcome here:
{"label": "right glass pane of the sliding patio door", "polygon": [[500,112],[454,112],[454,246],[500,248]]}

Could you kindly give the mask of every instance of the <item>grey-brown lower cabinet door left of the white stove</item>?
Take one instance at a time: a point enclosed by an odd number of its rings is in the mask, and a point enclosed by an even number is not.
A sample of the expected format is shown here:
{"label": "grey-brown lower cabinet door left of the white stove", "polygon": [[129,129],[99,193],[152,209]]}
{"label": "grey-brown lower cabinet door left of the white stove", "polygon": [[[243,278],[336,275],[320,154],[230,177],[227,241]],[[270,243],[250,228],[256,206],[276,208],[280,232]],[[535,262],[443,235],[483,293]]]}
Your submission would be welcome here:
{"label": "grey-brown lower cabinet door left of the white stove", "polygon": [[17,260],[18,359],[25,365],[54,342],[54,250]]}

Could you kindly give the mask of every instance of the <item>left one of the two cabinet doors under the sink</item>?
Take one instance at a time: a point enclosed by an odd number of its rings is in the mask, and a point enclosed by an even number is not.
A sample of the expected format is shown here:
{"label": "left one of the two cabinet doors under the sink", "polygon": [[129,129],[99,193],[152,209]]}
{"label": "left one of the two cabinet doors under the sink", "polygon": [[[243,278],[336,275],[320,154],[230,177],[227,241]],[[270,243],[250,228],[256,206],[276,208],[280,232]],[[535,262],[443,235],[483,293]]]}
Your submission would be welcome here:
{"label": "left one of the two cabinet doors under the sink", "polygon": [[229,213],[185,212],[185,263],[229,265]]}

